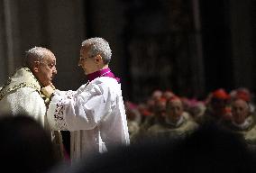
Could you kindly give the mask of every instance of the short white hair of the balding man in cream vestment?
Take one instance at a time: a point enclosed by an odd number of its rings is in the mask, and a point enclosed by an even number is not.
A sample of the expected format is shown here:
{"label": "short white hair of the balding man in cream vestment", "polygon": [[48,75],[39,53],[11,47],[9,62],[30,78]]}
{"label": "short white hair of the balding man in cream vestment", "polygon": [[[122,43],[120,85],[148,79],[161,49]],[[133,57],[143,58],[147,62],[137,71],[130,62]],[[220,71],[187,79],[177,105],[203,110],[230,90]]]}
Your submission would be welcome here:
{"label": "short white hair of the balding man in cream vestment", "polygon": [[37,60],[37,61],[42,61],[44,59],[45,56],[50,56],[54,54],[46,49],[46,48],[42,48],[42,47],[34,47],[30,50],[25,51],[25,66],[27,66],[28,68],[31,68],[33,61]]}

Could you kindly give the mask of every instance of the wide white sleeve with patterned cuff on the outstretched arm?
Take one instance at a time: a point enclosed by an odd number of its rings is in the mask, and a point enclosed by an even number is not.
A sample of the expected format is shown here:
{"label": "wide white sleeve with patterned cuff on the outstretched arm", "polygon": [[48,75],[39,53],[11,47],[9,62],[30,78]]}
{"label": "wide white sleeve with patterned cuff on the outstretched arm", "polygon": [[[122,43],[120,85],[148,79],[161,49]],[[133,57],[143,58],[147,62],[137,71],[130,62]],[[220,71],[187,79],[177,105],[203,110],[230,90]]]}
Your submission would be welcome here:
{"label": "wide white sleeve with patterned cuff on the outstretched arm", "polygon": [[[69,91],[70,92],[70,91]],[[54,130],[94,129],[104,114],[110,112],[107,88],[94,85],[83,92],[56,91],[52,96],[47,117]]]}

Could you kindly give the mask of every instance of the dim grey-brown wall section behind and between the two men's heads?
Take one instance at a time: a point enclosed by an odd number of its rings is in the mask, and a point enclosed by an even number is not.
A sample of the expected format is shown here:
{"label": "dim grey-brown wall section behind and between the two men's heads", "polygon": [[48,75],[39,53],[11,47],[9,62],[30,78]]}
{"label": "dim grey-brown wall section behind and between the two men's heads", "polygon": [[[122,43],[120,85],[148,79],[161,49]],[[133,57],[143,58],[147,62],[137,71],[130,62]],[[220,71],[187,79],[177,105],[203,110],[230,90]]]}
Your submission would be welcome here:
{"label": "dim grey-brown wall section behind and between the two men's heads", "polygon": [[83,1],[1,0],[1,84],[23,65],[24,51],[49,48],[57,57],[56,87],[75,89],[84,79],[78,68],[85,39]]}

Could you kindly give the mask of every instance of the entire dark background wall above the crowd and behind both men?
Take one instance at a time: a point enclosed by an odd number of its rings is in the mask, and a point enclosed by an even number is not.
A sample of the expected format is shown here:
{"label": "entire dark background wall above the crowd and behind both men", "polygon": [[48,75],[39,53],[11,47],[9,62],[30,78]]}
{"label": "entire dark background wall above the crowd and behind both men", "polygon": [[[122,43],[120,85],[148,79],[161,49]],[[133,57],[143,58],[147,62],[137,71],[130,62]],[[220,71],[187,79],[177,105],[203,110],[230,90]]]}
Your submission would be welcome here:
{"label": "entire dark background wall above the crowd and behind both men", "polygon": [[79,47],[100,36],[123,96],[140,102],[154,89],[203,98],[217,87],[255,91],[253,0],[0,0],[0,84],[44,46],[57,57],[59,89],[87,81]]}

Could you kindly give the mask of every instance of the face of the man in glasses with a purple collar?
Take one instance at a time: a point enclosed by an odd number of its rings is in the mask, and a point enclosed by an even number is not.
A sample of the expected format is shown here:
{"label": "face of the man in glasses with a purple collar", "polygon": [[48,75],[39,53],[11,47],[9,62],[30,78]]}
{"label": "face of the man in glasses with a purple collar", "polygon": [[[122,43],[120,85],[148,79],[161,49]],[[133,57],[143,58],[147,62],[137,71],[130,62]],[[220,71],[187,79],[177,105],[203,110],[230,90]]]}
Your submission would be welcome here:
{"label": "face of the man in glasses with a purple collar", "polygon": [[90,74],[98,70],[96,63],[96,56],[88,56],[89,47],[82,47],[80,50],[80,59],[78,61],[78,66],[84,69],[85,74]]}

